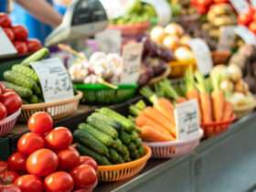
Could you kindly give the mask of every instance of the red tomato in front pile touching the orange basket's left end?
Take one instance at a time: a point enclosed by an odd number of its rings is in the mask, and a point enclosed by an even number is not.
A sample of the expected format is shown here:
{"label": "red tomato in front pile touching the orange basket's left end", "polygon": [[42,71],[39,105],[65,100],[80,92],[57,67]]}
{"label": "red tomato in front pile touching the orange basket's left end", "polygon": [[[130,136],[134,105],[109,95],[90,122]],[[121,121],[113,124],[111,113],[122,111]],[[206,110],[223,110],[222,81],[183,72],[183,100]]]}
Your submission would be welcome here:
{"label": "red tomato in front pile touching the orange basket's left end", "polygon": [[97,173],[90,165],[79,165],[71,171],[76,189],[94,188],[98,184]]}

